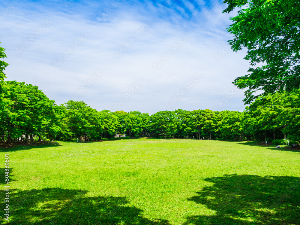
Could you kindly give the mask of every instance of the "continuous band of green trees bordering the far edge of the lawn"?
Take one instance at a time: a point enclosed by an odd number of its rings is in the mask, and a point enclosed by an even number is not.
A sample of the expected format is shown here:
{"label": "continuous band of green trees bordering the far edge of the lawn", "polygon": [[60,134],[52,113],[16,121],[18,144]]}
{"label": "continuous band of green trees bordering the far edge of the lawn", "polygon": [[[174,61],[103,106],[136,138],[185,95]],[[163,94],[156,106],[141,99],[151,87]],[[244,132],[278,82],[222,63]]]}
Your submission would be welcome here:
{"label": "continuous band of green trees bordering the far edge of the lawn", "polygon": [[56,105],[24,82],[1,82],[1,141],[100,140],[139,137],[266,140],[300,138],[300,92],[275,93],[257,98],[244,112],[97,111],[84,102]]}

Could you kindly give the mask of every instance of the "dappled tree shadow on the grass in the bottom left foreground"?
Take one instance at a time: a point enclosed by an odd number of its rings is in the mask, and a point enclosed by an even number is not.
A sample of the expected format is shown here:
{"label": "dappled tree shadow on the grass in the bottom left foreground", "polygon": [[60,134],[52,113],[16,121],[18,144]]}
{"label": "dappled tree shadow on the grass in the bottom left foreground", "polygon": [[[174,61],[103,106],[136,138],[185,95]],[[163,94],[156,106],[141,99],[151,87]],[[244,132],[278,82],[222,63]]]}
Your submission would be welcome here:
{"label": "dappled tree shadow on the grass in the bottom left foreground", "polygon": [[9,196],[9,224],[169,224],[167,220],[144,218],[141,209],[125,205],[125,197],[88,197],[87,192],[61,188],[14,191]]}

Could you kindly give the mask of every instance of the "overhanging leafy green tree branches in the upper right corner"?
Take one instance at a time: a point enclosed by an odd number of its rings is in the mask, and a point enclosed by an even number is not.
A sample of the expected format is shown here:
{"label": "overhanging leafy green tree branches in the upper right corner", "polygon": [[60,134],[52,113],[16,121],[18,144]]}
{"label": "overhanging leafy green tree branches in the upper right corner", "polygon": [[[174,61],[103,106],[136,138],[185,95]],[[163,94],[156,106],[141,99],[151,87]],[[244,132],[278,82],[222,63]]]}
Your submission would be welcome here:
{"label": "overhanging leafy green tree branches in the upper right corner", "polygon": [[[244,89],[244,102],[276,91],[300,87],[300,2],[299,0],[224,0],[223,13],[240,8],[233,24],[227,28],[234,35],[229,40],[234,51],[247,48],[244,59],[253,68],[249,74],[235,78],[233,84]],[[257,66],[257,64],[265,64]],[[263,93],[254,95],[257,91]]]}

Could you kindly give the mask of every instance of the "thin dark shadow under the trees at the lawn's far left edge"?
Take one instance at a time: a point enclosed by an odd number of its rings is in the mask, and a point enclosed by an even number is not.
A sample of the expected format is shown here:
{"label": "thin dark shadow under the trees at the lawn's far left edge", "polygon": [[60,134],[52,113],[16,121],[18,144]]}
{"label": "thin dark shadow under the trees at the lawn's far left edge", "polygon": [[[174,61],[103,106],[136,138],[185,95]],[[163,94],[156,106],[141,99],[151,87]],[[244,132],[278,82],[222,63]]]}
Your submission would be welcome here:
{"label": "thin dark shadow under the trees at the lawn's far left edge", "polygon": [[56,141],[39,141],[39,142],[29,142],[26,145],[25,142],[14,142],[12,144],[1,143],[0,152],[12,152],[12,151],[21,151],[28,150],[32,148],[45,148],[45,147],[58,147],[61,146]]}

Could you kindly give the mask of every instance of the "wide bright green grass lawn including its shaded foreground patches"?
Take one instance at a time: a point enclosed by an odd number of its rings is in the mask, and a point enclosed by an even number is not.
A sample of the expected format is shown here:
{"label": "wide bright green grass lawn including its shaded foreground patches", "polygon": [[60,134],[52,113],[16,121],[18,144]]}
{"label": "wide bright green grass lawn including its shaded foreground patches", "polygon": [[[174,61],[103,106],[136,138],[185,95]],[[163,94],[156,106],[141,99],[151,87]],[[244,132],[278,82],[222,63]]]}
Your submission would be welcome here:
{"label": "wide bright green grass lawn including its shaded foreground patches", "polygon": [[300,224],[300,151],[148,138],[0,151],[1,224]]}

